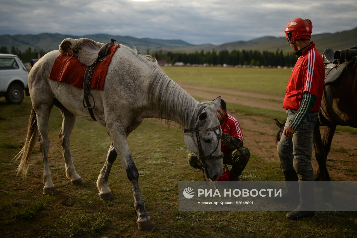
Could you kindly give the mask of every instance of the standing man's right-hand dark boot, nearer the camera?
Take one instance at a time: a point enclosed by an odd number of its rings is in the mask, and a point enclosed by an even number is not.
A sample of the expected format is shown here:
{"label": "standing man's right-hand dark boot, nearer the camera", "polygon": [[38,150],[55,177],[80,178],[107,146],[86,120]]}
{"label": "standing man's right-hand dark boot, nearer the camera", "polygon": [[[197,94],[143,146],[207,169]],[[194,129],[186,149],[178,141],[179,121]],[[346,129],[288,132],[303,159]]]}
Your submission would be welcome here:
{"label": "standing man's right-hand dark boot, nearer the camera", "polygon": [[314,210],[314,183],[299,182],[300,204],[299,206],[286,214],[286,217],[291,220],[298,220],[315,215]]}

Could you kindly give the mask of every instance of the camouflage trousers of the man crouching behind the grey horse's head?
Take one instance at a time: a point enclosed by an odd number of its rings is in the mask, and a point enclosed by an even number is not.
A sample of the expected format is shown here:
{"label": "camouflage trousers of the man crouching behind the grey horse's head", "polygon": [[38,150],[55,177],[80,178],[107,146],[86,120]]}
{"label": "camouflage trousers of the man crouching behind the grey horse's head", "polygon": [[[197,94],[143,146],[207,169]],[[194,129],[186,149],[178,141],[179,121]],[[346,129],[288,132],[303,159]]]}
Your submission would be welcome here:
{"label": "camouflage trousers of the man crouching behind the grey horse's head", "polygon": [[[187,155],[188,164],[196,169],[201,169],[197,162],[198,158],[195,153],[191,152]],[[246,167],[248,160],[250,158],[250,152],[246,147],[239,147],[238,149],[228,151],[224,153],[223,164],[232,165],[231,175],[238,177],[243,172]]]}

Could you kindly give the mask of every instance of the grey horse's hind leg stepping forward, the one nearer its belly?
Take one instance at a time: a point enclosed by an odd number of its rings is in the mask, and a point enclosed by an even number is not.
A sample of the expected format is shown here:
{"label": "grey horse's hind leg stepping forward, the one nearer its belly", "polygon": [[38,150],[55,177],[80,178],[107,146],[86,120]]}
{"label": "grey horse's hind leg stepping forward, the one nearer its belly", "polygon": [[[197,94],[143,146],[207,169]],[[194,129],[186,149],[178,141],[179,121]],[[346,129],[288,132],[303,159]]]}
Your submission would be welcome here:
{"label": "grey horse's hind leg stepping forward, the one nearer its belly", "polygon": [[84,180],[76,172],[70,151],[71,134],[76,125],[77,116],[63,107],[60,108],[60,111],[62,113],[63,121],[59,137],[63,149],[63,157],[65,158],[66,176],[71,179],[73,184],[81,185],[84,184]]}

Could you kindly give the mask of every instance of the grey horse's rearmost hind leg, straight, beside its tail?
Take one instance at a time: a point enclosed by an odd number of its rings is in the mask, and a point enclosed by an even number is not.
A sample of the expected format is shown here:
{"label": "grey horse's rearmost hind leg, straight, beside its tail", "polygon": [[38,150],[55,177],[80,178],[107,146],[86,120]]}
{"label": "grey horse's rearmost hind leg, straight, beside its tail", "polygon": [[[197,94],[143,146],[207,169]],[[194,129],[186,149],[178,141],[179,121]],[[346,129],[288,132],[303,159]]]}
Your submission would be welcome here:
{"label": "grey horse's rearmost hind leg, straight, beside its tail", "polygon": [[41,104],[39,106],[33,105],[34,110],[36,111],[37,127],[40,132],[40,149],[44,162],[43,183],[45,186],[42,189],[44,194],[55,193],[55,185],[52,183],[50,166],[48,163],[48,149],[50,145],[50,140],[48,139],[48,121],[52,106],[52,104]]}

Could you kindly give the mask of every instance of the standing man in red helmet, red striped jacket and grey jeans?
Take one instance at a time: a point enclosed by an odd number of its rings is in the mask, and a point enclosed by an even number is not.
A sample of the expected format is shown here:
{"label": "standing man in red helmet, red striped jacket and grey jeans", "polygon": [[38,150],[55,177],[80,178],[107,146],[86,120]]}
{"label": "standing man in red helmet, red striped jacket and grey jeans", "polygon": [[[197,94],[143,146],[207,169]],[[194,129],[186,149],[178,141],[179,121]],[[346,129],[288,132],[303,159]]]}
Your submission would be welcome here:
{"label": "standing man in red helmet, red striped jacket and grey jeans", "polygon": [[301,219],[314,215],[314,212],[306,212],[313,210],[312,183],[288,182],[313,181],[313,130],[322,99],[325,70],[321,54],[310,42],[311,20],[295,18],[285,26],[284,31],[298,59],[286,86],[283,108],[286,109],[287,120],[277,150],[288,187],[283,199],[298,201],[300,195],[299,206],[286,216]]}

